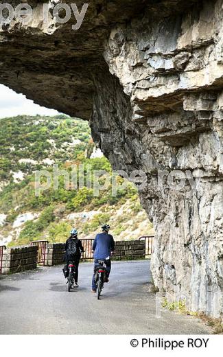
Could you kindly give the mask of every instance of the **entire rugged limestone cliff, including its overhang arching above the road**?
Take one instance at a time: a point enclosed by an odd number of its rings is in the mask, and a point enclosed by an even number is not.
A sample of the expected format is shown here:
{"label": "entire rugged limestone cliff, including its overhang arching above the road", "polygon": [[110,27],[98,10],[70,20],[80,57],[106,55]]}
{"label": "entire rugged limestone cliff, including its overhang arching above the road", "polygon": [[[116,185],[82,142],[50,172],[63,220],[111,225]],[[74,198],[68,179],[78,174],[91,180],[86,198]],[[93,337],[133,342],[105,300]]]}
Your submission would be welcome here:
{"label": "entire rugged limestone cliff, including its overhang arching above the road", "polygon": [[[69,1],[66,1],[69,3]],[[81,1],[76,1],[81,8]],[[90,120],[113,168],[142,170],[154,283],[218,315],[223,291],[223,10],[218,1],[91,1],[80,30],[0,32],[0,82]],[[54,19],[51,19],[54,22]]]}

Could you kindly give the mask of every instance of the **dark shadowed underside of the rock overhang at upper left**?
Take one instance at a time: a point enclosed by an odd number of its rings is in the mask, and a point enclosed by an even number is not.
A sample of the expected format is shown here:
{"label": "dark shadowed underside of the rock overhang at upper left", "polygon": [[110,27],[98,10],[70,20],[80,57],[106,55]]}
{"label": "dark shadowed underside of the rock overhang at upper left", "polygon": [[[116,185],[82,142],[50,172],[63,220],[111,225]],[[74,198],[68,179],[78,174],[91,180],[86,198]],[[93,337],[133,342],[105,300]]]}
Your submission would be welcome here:
{"label": "dark shadowed underside of the rock overhang at upper left", "polygon": [[[7,3],[15,6],[21,1]],[[33,9],[32,21],[27,25],[12,21],[0,30],[0,82],[40,105],[89,119],[94,76],[108,71],[104,48],[113,27],[125,27],[145,14],[160,21],[200,1],[90,1],[76,31],[71,30],[74,18],[64,24],[56,25],[54,19],[44,24],[41,11],[46,1],[27,3]],[[75,3],[81,9],[84,1]]]}

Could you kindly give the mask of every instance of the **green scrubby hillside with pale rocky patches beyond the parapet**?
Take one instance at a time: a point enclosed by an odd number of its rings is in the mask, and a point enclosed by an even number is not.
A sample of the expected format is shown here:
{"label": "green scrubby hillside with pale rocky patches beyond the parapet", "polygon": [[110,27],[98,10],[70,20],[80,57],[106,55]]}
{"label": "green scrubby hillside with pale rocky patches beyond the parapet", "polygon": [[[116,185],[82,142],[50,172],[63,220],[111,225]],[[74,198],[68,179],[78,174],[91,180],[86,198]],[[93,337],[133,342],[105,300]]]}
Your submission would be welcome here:
{"label": "green scrubby hillside with pale rocky patches beyond the parapet", "polygon": [[[0,242],[27,244],[43,238],[62,242],[71,227],[81,238],[93,237],[103,222],[110,222],[115,239],[150,233],[152,225],[132,183],[118,188],[116,196],[111,185],[98,196],[92,187],[85,187],[94,170],[112,172],[108,160],[93,150],[88,123],[80,119],[65,115],[0,119]],[[74,165],[83,165],[84,187],[67,187],[59,176],[58,189],[51,182],[36,196],[36,170],[47,170],[53,177],[54,165],[69,175]],[[103,183],[103,177],[100,180]]]}

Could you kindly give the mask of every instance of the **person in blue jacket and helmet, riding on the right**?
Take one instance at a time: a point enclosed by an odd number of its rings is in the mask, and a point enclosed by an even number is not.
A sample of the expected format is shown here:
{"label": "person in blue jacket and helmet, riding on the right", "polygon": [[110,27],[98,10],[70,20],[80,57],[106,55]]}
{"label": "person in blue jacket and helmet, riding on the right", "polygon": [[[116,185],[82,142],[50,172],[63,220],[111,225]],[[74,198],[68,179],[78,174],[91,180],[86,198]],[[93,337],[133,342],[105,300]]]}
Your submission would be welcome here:
{"label": "person in blue jacket and helmet, riding on the right", "polygon": [[92,292],[96,292],[95,268],[97,267],[99,260],[105,260],[107,273],[104,282],[108,283],[111,267],[110,255],[115,250],[114,238],[111,234],[108,234],[109,229],[109,224],[104,224],[102,226],[102,233],[97,234],[93,242],[92,249],[94,251],[94,273],[92,278]]}

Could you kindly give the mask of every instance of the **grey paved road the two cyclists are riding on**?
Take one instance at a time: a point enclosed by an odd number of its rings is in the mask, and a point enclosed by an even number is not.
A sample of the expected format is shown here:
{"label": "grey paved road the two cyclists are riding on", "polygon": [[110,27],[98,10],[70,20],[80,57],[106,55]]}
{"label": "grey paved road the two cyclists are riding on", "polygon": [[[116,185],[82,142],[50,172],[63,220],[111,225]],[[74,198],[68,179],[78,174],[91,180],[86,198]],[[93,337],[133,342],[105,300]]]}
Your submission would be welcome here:
{"label": "grey paved road the two cyclists are riding on", "polygon": [[[91,292],[92,264],[80,264],[80,288],[67,292],[61,266],[0,280],[0,334],[208,334],[189,316],[155,316],[149,261],[113,262],[102,300]],[[150,276],[151,279],[151,276]]]}

